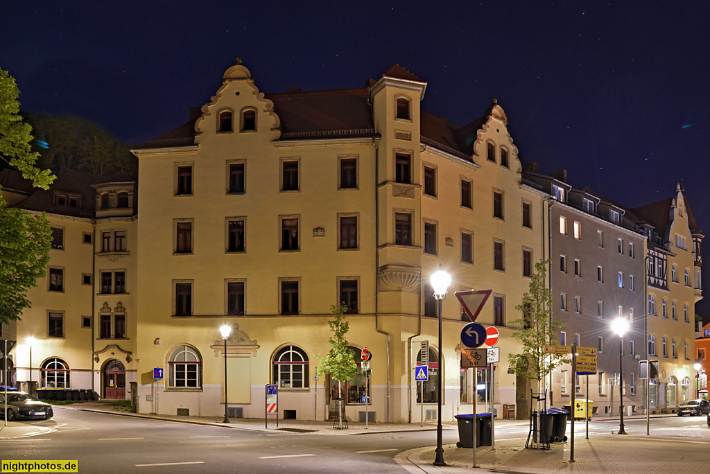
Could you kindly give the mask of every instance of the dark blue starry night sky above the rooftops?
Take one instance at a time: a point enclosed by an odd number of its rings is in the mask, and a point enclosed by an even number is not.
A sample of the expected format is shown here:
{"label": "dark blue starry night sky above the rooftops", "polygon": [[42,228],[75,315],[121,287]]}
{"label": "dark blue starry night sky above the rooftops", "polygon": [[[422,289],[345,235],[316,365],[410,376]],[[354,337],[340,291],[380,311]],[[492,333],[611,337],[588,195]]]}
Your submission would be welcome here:
{"label": "dark blue starry night sky above the rooftops", "polygon": [[633,207],[683,180],[710,232],[708,18],[705,0],[4,1],[0,67],[24,111],[143,143],[236,57],[266,94],[364,87],[399,63],[428,82],[422,109],[459,126],[496,97],[520,159],[574,187]]}

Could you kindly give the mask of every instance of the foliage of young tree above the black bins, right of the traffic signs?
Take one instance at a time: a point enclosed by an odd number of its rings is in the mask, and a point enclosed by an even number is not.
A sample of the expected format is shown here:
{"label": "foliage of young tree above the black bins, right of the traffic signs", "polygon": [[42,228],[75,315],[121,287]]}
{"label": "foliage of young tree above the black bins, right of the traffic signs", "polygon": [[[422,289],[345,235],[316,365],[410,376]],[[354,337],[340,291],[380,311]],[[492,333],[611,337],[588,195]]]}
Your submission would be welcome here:
{"label": "foliage of young tree above the black bins, right of the traffic signs", "polygon": [[550,265],[549,259],[535,263],[528,292],[523,294],[523,304],[515,307],[523,314],[523,319],[512,322],[518,326],[512,336],[520,341],[521,352],[508,355],[509,370],[528,380],[537,380],[538,384],[542,377],[567,362],[564,355],[545,353],[545,345],[555,344],[559,329],[564,326],[552,319],[552,293],[545,285],[547,265]]}

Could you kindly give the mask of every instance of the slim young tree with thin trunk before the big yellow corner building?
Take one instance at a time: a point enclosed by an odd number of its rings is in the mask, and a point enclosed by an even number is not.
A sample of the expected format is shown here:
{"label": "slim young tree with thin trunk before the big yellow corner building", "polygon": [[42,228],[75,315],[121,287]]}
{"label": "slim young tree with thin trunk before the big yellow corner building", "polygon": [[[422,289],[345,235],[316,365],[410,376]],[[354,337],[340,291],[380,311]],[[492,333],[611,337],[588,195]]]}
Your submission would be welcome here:
{"label": "slim young tree with thin trunk before the big yellow corner building", "polygon": [[347,311],[347,306],[344,303],[339,305],[332,305],[330,307],[331,312],[335,315],[335,319],[328,321],[330,325],[330,330],[333,335],[329,339],[330,351],[325,357],[320,354],[316,354],[318,359],[318,375],[330,375],[334,380],[338,381],[338,427],[342,429],[343,425],[343,413],[342,413],[342,382],[350,380],[355,377],[359,368],[355,362],[354,351],[347,347],[348,340],[346,335],[350,329],[349,321],[345,320],[345,312]]}

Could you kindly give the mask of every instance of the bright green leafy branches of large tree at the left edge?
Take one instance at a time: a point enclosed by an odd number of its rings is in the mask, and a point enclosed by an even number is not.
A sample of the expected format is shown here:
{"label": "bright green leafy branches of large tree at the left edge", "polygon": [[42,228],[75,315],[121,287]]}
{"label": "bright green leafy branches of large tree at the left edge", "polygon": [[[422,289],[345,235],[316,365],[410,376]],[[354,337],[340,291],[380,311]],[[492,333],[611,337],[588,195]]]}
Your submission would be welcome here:
{"label": "bright green leafy branches of large tree at the left edge", "polygon": [[[15,79],[0,69],[0,158],[35,187],[49,189],[54,176],[36,166],[32,127],[20,115]],[[52,243],[45,214],[8,207],[0,189],[0,324],[20,319],[30,307],[28,290],[45,276]]]}

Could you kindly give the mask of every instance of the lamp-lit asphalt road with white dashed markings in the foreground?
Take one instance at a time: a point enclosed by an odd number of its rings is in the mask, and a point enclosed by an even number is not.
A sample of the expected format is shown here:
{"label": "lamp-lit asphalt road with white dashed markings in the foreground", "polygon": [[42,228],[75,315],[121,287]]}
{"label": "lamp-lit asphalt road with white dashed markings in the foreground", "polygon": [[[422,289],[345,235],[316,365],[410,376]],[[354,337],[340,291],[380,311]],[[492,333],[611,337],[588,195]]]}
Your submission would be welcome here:
{"label": "lamp-lit asphalt road with white dashed markings in the foreground", "polygon": [[[404,473],[393,456],[436,443],[435,431],[355,436],[263,433],[221,426],[55,409],[43,436],[0,442],[4,460],[77,460],[80,473]],[[645,419],[627,419],[626,431],[645,434]],[[570,426],[567,426],[569,435]],[[618,430],[618,418],[591,421],[590,437]],[[586,434],[575,423],[575,437]],[[496,439],[521,439],[528,425],[498,426]],[[705,417],[651,419],[653,436],[710,438]],[[444,430],[444,444],[458,440]]]}

